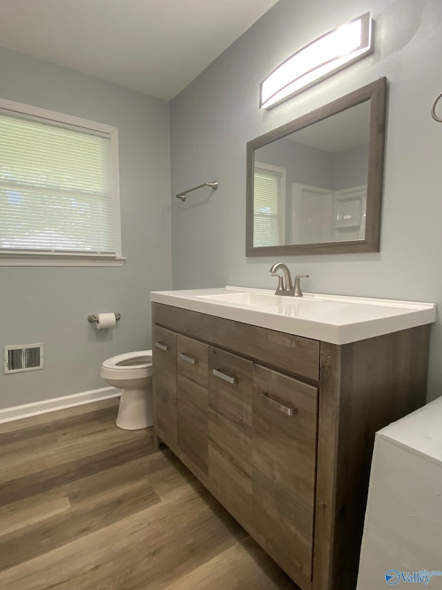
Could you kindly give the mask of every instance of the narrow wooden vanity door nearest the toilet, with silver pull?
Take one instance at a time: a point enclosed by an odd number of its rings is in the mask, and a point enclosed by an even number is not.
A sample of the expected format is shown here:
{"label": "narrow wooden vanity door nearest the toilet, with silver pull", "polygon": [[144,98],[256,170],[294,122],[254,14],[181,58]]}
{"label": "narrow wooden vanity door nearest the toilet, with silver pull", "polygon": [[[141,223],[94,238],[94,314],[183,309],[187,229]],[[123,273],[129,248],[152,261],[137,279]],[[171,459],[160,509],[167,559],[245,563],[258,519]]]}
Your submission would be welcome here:
{"label": "narrow wooden vanity door nearest the toilet, with silver pull", "polygon": [[153,399],[155,432],[165,443],[177,443],[176,334],[153,329]]}

